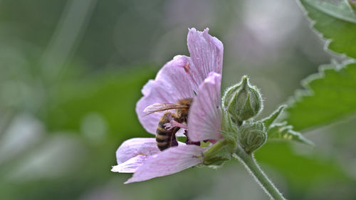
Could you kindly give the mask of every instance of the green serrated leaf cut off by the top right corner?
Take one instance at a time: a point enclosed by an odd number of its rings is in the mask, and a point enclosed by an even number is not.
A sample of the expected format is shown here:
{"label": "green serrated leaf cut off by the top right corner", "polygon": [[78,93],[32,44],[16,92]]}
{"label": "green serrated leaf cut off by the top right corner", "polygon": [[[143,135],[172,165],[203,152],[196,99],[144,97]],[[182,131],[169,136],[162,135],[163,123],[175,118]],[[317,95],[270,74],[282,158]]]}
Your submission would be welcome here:
{"label": "green serrated leaf cut off by the top right corner", "polygon": [[300,4],[314,22],[313,27],[330,39],[331,51],[356,58],[356,14],[347,0],[300,0]]}

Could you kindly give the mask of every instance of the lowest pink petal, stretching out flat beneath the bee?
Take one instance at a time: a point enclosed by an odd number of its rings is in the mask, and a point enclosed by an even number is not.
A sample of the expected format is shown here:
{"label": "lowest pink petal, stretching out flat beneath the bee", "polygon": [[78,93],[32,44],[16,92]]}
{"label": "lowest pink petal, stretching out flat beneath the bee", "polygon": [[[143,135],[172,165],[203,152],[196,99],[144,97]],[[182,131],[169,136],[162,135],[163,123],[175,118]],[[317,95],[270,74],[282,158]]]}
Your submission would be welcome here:
{"label": "lowest pink petal, stretching out flat beneath the bee", "polygon": [[149,157],[125,184],[180,172],[202,162],[205,148],[195,145],[172,147]]}

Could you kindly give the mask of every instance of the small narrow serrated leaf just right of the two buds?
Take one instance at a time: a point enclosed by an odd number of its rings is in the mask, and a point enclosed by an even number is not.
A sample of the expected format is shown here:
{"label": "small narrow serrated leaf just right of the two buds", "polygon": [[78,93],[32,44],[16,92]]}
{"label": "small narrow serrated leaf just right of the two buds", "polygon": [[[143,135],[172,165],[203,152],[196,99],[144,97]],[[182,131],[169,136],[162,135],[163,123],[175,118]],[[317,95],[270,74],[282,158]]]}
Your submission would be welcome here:
{"label": "small narrow serrated leaf just right of the two buds", "polygon": [[300,132],[293,131],[293,126],[287,125],[286,122],[272,125],[267,130],[267,140],[291,140],[295,142],[302,142],[313,146],[313,142],[306,139]]}

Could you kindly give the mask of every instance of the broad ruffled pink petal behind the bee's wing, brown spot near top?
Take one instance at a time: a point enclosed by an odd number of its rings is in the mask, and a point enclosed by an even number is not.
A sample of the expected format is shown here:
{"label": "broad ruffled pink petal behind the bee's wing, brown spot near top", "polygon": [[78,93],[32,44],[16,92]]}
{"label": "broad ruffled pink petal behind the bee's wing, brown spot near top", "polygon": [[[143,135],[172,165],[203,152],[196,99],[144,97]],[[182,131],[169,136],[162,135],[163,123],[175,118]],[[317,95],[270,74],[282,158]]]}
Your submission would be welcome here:
{"label": "broad ruffled pink petal behind the bee's wing, brown spot near top", "polygon": [[136,105],[138,119],[147,132],[156,133],[162,112],[150,115],[143,112],[154,103],[176,103],[183,98],[194,97],[199,83],[187,74],[187,68],[194,68],[192,60],[187,56],[175,56],[157,73],[155,80],[150,80],[142,89],[144,95]]}

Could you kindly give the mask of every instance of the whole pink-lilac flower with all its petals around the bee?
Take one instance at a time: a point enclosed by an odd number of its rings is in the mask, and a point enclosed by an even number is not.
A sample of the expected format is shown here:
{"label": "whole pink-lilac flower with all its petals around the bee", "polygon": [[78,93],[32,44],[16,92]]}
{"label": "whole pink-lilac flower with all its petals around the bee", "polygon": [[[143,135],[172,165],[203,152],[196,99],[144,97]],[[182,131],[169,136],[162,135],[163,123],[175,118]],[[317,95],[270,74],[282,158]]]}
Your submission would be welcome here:
{"label": "whole pink-lilac flower with all its petals around the bee", "polygon": [[[209,29],[189,30],[188,48],[191,57],[175,56],[142,89],[144,95],[136,105],[140,122],[147,132],[155,134],[162,112],[144,112],[157,103],[177,103],[193,98],[187,122],[187,141],[220,140],[221,70],[223,44],[210,36]],[[197,94],[197,95],[195,95]],[[207,147],[179,142],[176,147],[159,151],[155,138],[133,138],[117,149],[117,165],[112,172],[134,173],[125,183],[145,181],[180,172],[203,162]]]}

